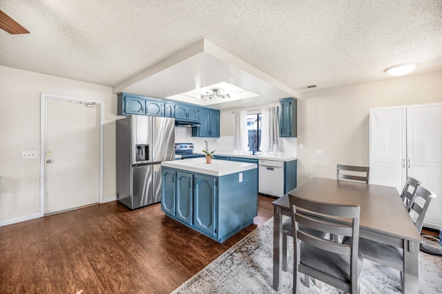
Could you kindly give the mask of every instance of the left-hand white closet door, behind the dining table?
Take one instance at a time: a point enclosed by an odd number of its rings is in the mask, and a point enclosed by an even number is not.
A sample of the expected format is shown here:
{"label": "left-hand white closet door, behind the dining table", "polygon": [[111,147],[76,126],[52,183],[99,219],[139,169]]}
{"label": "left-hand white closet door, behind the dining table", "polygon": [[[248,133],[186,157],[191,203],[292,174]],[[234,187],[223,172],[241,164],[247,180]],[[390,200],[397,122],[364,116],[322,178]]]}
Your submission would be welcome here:
{"label": "left-hand white closet door, behind the dining table", "polygon": [[370,109],[369,182],[394,186],[401,193],[406,179],[405,106]]}

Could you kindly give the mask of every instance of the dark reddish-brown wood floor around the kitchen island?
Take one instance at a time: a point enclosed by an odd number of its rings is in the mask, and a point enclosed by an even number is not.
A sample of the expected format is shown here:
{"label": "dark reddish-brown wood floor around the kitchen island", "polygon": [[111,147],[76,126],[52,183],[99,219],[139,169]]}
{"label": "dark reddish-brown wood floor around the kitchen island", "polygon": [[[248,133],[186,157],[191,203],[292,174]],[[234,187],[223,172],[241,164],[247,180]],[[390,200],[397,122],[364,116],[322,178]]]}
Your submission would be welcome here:
{"label": "dark reddish-brown wood floor around the kitchen island", "polygon": [[89,206],[0,228],[0,293],[170,293],[273,215],[224,243],[165,217],[160,204]]}

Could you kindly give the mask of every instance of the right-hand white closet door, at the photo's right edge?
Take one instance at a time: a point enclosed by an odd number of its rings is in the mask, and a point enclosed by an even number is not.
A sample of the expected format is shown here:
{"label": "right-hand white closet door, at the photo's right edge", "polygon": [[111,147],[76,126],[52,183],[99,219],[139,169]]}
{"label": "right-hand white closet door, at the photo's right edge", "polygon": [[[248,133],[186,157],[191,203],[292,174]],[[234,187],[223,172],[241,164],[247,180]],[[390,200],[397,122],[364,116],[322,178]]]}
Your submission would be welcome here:
{"label": "right-hand white closet door, at the photo's right edge", "polygon": [[432,190],[436,198],[424,226],[442,226],[442,104],[407,106],[408,175]]}

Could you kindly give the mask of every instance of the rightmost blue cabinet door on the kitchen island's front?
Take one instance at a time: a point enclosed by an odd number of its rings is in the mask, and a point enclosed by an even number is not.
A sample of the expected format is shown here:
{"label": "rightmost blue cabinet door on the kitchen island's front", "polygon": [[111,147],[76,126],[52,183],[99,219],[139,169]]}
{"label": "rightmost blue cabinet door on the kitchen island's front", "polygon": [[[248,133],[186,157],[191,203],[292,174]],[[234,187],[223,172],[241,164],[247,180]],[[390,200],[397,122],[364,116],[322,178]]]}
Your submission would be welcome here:
{"label": "rightmost blue cabinet door on the kitchen island's front", "polygon": [[208,235],[215,236],[216,179],[195,175],[193,226]]}

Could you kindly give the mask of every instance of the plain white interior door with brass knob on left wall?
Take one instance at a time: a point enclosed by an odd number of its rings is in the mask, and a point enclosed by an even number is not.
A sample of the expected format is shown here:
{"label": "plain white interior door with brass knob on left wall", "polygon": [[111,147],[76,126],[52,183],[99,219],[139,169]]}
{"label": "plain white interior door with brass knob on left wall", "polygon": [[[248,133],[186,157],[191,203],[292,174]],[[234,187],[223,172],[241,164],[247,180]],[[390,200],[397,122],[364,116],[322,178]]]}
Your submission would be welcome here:
{"label": "plain white interior door with brass knob on left wall", "polygon": [[45,214],[99,202],[99,107],[46,98]]}

